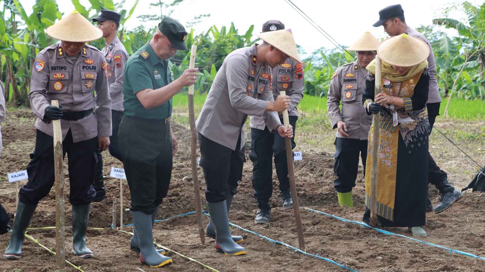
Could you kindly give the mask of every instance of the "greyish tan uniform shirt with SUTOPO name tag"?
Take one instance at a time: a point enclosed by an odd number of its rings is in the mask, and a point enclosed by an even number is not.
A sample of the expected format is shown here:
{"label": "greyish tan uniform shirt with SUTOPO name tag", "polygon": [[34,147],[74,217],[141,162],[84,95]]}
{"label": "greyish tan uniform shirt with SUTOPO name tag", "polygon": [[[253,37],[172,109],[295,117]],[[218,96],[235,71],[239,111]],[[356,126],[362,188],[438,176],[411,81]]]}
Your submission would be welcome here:
{"label": "greyish tan uniform shirt with SUTOPO name tag", "polygon": [[[37,54],[32,68],[29,93],[35,127],[53,136],[52,124],[42,121],[51,100],[59,100],[63,112],[81,112],[97,108],[96,112],[76,120],[61,120],[63,140],[71,129],[74,143],[96,136],[111,136],[111,98],[106,79],[106,62],[101,52],[85,45],[73,63],[61,47],[54,44]],[[96,97],[94,95],[96,91]]]}

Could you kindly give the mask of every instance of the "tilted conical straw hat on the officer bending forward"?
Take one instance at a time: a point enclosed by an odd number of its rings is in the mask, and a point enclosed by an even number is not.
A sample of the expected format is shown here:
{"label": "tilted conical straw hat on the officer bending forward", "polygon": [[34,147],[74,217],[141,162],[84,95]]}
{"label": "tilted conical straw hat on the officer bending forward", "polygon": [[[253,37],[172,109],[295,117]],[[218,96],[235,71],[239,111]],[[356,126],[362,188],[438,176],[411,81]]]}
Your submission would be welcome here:
{"label": "tilted conical straw hat on the officer bending forward", "polygon": [[256,34],[256,36],[301,63],[291,29],[263,32]]}

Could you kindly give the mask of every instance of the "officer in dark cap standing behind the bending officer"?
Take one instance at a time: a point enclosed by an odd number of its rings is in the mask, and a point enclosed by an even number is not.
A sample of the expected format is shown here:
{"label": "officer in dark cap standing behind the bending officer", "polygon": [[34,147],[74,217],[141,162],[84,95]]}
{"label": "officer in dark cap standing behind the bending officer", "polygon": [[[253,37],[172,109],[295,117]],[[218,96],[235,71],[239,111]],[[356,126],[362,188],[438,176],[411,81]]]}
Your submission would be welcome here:
{"label": "officer in dark cap standing behind the bending officer", "polygon": [[[263,24],[262,32],[285,29],[285,25],[278,20],[269,20]],[[301,63],[288,58],[284,63],[277,65],[271,71],[271,86],[273,97],[279,96],[280,91],[286,91],[290,96],[288,115],[290,125],[295,133],[298,112],[296,106],[303,97],[305,81],[303,80],[303,66]],[[280,112],[279,112],[280,113]],[[283,116],[279,116],[283,122]],[[256,224],[269,223],[271,206],[269,199],[273,193],[273,154],[275,154],[276,175],[279,180],[279,193],[283,200],[283,208],[293,208],[288,179],[288,164],[286,160],[285,139],[271,133],[261,116],[251,116],[251,152],[249,158],[253,161],[252,184],[254,197],[258,202],[258,213],[254,222]],[[291,138],[291,148],[296,146],[294,137]]]}

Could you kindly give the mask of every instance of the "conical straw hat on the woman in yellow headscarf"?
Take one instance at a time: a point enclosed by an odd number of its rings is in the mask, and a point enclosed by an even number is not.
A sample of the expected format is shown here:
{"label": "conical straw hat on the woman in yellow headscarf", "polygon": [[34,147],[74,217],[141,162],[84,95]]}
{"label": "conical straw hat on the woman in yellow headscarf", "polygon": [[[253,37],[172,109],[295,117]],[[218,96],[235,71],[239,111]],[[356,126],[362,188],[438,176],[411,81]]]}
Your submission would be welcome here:
{"label": "conical straw hat on the woman in yellow headscarf", "polygon": [[384,40],[377,49],[381,60],[391,65],[413,66],[429,56],[429,47],[422,40],[403,33]]}

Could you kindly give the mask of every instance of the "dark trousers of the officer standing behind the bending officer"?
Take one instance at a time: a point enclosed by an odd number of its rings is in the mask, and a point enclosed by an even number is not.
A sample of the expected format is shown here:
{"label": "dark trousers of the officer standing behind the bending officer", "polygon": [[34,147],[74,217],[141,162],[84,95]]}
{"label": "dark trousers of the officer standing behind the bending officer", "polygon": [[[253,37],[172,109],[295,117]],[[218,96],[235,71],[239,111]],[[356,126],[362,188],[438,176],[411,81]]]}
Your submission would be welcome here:
{"label": "dark trousers of the officer standing behind the bending officer", "polygon": [[[293,127],[291,149],[295,148],[295,128],[298,116],[289,116]],[[283,120],[281,119],[281,123]],[[253,189],[254,198],[268,201],[273,194],[273,155],[275,155],[276,176],[279,180],[279,190],[290,188],[288,179],[288,162],[286,160],[285,138],[278,133],[271,133],[267,127],[264,130],[251,128],[251,151],[249,159],[253,162]]]}

